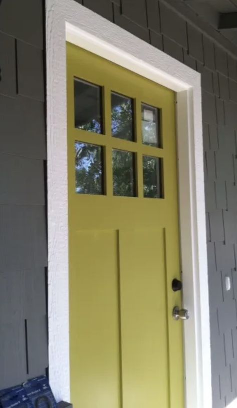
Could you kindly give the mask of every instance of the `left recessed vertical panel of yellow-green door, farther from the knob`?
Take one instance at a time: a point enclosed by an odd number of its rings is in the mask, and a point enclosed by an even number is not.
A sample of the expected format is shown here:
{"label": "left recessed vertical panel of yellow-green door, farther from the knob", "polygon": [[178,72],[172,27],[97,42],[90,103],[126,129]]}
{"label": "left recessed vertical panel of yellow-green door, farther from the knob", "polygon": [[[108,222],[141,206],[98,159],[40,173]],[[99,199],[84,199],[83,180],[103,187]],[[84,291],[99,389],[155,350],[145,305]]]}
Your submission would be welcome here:
{"label": "left recessed vertical panel of yellow-green door, farther from the knob", "polygon": [[[70,287],[71,387],[85,408],[120,406],[117,232],[78,231]],[[93,256],[92,256],[93,254]],[[109,254],[109,256],[108,256]],[[79,369],[80,367],[80,369]]]}

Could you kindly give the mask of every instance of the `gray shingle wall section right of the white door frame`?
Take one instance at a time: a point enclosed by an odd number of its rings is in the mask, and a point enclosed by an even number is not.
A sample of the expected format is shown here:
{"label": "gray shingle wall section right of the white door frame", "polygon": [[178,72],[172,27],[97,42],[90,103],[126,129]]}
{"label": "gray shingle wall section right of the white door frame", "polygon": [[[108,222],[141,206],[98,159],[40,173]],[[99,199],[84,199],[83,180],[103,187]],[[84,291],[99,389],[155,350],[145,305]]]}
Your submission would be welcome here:
{"label": "gray shingle wall section right of the white door frame", "polygon": [[[78,3],[82,4],[82,0]],[[213,407],[236,397],[237,387],[237,68],[221,35],[195,16],[182,17],[173,0],[84,0],[84,6],[201,73]],[[182,9],[183,8],[183,9]],[[180,13],[181,10],[181,13]],[[213,34],[213,38],[211,37]],[[218,44],[222,43],[222,47]],[[235,53],[237,55],[237,53]],[[225,276],[231,280],[226,291]]]}

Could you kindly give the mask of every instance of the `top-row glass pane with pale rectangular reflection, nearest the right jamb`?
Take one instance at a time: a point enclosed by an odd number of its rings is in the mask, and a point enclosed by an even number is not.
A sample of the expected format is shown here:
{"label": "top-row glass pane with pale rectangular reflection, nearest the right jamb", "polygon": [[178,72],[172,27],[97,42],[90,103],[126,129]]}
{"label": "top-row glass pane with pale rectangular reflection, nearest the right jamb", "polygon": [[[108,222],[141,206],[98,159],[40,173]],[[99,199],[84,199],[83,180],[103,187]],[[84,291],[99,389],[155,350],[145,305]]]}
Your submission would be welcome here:
{"label": "top-row glass pane with pale rectangular reflection, nearest the right jamb", "polygon": [[142,143],[144,145],[161,147],[159,132],[159,109],[142,104]]}

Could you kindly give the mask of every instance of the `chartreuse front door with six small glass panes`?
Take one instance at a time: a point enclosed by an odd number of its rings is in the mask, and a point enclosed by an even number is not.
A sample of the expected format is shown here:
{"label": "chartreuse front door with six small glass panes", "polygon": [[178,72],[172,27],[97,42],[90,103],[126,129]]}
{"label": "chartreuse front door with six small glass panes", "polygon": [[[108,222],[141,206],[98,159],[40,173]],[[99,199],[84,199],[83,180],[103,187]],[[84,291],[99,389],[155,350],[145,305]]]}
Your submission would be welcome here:
{"label": "chartreuse front door with six small glass panes", "polygon": [[71,400],[183,408],[175,95],[71,44],[67,95]]}

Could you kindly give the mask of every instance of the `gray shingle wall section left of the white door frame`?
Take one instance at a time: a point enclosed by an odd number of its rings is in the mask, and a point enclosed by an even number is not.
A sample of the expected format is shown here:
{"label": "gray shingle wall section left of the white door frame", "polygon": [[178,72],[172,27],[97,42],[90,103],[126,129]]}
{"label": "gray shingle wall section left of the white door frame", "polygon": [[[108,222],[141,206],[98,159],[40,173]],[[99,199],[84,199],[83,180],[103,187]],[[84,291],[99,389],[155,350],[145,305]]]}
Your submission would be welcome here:
{"label": "gray shingle wall section left of the white door frame", "polygon": [[0,2],[0,389],[48,366],[43,15]]}

